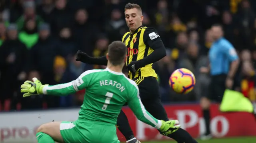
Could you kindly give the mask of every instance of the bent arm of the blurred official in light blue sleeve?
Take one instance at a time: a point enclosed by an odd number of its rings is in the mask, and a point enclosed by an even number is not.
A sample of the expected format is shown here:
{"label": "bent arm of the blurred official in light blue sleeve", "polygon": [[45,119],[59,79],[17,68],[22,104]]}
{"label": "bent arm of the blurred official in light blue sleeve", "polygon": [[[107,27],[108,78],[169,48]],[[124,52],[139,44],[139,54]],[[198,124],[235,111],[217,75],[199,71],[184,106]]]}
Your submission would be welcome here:
{"label": "bent arm of the blurred official in light blue sleeve", "polygon": [[233,79],[239,66],[239,58],[236,53],[236,49],[231,45],[231,43],[227,43],[223,45],[222,50],[231,62],[230,70],[228,72],[228,78]]}

